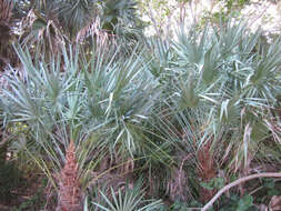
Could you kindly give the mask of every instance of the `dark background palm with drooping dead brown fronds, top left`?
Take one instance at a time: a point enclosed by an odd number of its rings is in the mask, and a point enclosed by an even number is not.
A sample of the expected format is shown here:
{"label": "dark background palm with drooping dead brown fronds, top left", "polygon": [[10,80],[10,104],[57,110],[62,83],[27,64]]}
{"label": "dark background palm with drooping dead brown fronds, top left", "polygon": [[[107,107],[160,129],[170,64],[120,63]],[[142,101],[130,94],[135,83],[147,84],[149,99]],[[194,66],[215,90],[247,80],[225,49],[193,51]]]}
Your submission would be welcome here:
{"label": "dark background palm with drooping dead brown fronds, top left", "polygon": [[134,0],[118,3],[96,0],[16,2],[26,11],[21,21],[21,42],[47,56],[57,53],[62,43],[83,42],[87,46],[92,44],[91,38],[112,41],[116,37],[134,41],[142,34],[136,23],[140,21],[136,17]]}

